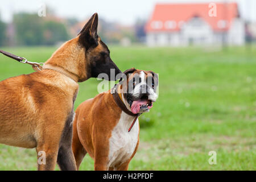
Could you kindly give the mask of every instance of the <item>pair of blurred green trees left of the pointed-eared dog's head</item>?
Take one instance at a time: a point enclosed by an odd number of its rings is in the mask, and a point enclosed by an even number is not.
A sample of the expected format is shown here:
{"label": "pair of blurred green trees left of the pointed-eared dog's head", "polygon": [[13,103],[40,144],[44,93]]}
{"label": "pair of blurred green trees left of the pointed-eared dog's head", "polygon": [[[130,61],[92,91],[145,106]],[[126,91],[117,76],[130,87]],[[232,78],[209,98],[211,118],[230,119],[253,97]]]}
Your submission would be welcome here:
{"label": "pair of blurred green trees left of the pointed-eared dog's head", "polygon": [[69,39],[67,28],[61,19],[49,15],[18,13],[14,15],[15,37],[19,45],[54,45]]}

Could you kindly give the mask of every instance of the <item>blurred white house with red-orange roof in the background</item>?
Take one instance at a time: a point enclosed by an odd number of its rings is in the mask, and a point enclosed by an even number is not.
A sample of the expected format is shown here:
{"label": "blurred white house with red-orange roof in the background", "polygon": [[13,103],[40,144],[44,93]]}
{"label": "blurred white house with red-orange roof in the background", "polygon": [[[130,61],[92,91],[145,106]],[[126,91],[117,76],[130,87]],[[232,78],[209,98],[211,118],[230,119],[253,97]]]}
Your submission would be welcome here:
{"label": "blurred white house with red-orange roof in the background", "polygon": [[245,43],[237,3],[158,4],[145,30],[148,46]]}

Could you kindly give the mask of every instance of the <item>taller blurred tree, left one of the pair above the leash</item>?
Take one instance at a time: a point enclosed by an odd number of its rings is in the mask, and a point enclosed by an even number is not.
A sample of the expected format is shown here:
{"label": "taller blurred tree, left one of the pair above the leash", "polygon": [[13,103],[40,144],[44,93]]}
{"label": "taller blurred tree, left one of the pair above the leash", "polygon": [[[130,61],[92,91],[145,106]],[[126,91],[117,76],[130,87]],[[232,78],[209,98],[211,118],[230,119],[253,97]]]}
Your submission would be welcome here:
{"label": "taller blurred tree, left one of the pair above the leash", "polygon": [[18,13],[13,16],[18,44],[26,46],[43,43],[43,19],[37,14]]}

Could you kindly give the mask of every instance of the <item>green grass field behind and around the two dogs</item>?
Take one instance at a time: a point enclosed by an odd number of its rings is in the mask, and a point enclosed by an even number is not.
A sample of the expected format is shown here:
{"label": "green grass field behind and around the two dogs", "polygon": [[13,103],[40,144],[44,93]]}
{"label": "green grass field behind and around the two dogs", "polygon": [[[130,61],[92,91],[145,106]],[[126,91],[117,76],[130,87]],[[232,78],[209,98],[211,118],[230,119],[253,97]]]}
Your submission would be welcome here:
{"label": "green grass field behind and around the two dogs", "polygon": [[[109,47],[118,67],[159,73],[159,99],[140,118],[139,149],[130,170],[255,170],[256,48]],[[5,48],[45,61],[56,48]],[[0,56],[0,80],[31,73],[30,65]],[[80,84],[76,100],[97,94],[94,78]],[[209,151],[217,152],[210,165]],[[0,144],[1,170],[36,170],[36,152]],[[56,167],[56,169],[58,169]],[[92,170],[87,155],[81,170]]]}

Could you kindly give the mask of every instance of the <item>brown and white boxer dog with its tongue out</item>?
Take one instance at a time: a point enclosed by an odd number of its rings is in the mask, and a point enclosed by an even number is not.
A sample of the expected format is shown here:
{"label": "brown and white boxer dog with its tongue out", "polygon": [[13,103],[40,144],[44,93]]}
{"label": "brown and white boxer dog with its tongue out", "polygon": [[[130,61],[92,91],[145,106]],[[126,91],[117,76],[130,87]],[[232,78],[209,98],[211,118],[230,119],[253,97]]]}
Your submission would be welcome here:
{"label": "brown and white boxer dog with its tongue out", "polygon": [[95,170],[128,169],[139,144],[138,115],[156,101],[158,75],[131,68],[123,77],[113,89],[77,107],[72,142],[77,169],[87,152]]}

